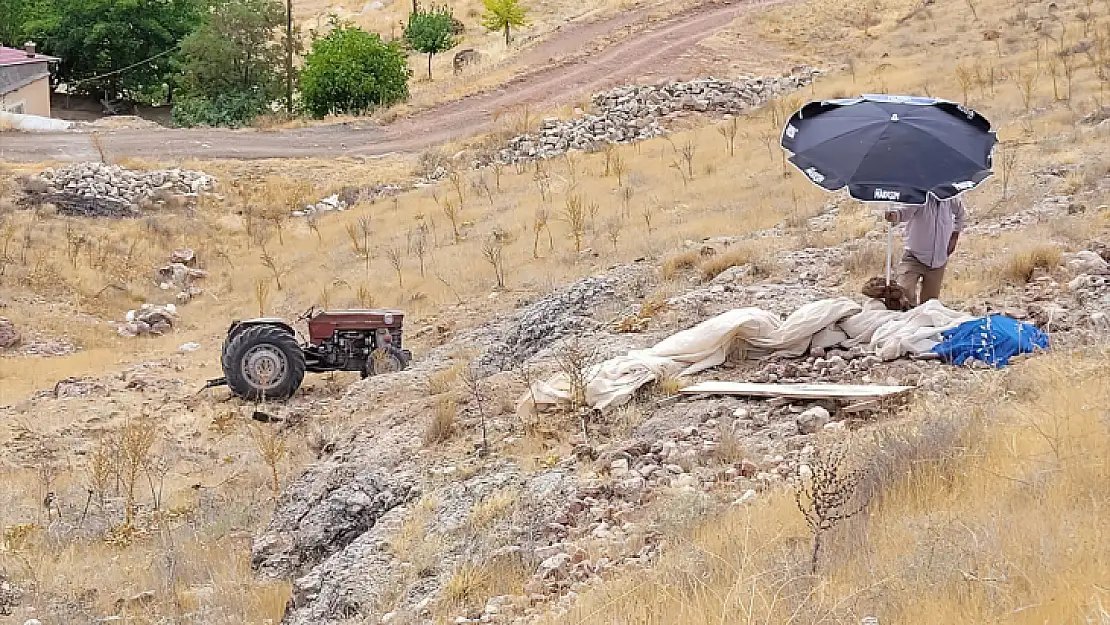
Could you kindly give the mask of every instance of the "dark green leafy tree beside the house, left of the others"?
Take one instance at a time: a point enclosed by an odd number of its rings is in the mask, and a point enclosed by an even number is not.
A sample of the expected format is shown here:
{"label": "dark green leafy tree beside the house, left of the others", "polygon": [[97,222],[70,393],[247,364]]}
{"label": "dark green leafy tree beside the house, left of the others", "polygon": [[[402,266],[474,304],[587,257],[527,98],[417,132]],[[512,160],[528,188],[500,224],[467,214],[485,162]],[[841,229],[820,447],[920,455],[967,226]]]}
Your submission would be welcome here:
{"label": "dark green leafy tree beside the house, left of the others", "polygon": [[178,73],[178,44],[200,19],[198,0],[51,0],[23,31],[61,58],[56,78],[74,91],[149,101]]}

